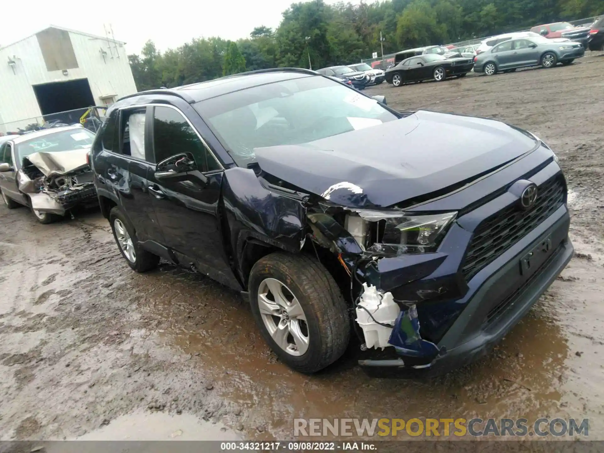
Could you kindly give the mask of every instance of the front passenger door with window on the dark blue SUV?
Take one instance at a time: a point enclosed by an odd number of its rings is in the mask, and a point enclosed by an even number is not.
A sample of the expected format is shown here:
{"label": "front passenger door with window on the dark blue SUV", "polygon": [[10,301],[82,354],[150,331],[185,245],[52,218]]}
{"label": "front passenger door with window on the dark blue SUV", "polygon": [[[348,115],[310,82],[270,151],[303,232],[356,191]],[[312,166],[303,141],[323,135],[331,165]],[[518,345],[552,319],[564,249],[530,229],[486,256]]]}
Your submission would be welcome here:
{"label": "front passenger door with window on the dark blue SUV", "polygon": [[177,178],[162,178],[161,171],[158,175],[153,172],[148,175],[149,193],[165,245],[175,252],[182,265],[193,266],[214,280],[240,290],[226,256],[220,228],[222,166],[179,109],[155,106],[153,110],[154,162],[159,164],[174,156],[186,155],[185,160],[192,158],[196,167],[195,171]]}

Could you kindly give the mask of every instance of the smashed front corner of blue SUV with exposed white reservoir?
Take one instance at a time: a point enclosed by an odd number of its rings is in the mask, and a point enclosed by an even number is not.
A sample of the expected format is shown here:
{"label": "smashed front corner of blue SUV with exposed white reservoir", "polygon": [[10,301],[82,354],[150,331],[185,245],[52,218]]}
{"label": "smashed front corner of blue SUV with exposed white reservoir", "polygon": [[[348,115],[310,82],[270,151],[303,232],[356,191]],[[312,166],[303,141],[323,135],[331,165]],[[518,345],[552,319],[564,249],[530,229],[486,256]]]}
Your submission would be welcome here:
{"label": "smashed front corner of blue SUV with exposed white reservoir", "polygon": [[358,210],[330,204],[331,195],[307,216],[313,242],[336,254],[350,277],[348,295],[362,355],[367,357],[359,364],[371,367],[379,357],[381,364],[387,358],[389,365],[430,367],[446,350],[422,338],[418,306],[467,291],[466,284],[451,275],[422,281],[435,276],[445,261],[437,248],[457,213]]}

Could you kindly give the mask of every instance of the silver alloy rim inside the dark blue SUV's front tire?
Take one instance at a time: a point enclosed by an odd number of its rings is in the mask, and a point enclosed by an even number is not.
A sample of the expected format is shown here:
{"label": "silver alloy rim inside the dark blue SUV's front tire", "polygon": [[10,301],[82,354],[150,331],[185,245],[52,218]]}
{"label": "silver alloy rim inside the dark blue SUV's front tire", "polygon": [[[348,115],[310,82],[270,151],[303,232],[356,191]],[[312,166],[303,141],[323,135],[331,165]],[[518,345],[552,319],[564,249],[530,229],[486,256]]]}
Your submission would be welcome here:
{"label": "silver alloy rim inside the dark blue SUV's front tire", "polygon": [[292,356],[304,355],[309,329],[294,293],[276,278],[265,278],[258,287],[257,300],[262,321],[275,343]]}

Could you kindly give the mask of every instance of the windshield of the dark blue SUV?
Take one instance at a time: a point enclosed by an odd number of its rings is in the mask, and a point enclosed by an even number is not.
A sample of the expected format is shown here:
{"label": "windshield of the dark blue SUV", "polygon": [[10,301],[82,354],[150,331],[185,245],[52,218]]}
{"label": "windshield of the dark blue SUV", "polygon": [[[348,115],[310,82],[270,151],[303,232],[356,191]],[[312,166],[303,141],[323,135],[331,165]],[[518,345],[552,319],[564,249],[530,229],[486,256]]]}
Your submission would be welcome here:
{"label": "windshield of the dark blue SUV", "polygon": [[194,107],[240,167],[254,161],[255,148],[309,143],[398,118],[376,100],[326,77],[255,86]]}

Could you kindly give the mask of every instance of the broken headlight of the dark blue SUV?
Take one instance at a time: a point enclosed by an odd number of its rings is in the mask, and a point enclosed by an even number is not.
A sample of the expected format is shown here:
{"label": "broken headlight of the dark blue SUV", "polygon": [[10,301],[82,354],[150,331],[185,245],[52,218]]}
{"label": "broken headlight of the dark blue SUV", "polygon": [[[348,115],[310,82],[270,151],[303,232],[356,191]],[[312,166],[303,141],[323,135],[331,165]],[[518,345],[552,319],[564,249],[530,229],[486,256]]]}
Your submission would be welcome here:
{"label": "broken headlight of the dark blue SUV", "polygon": [[365,250],[398,256],[436,251],[457,213],[414,216],[400,212],[361,211],[359,216],[369,222]]}

